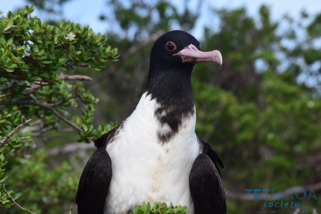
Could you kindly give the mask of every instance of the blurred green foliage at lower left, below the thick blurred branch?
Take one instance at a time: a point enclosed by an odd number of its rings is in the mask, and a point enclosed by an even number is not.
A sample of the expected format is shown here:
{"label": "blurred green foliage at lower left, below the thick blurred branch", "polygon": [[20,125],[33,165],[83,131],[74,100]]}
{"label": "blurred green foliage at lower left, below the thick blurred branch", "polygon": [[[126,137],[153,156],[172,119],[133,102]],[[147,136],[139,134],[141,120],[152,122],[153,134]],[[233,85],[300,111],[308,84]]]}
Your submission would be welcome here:
{"label": "blurred green foliage at lower left, below the thick blurred branch", "polygon": [[[5,188],[19,191],[17,202],[33,212],[63,213],[74,207],[72,196],[77,192],[79,174],[68,161],[62,161],[52,169],[46,156],[46,151],[40,149],[30,158],[20,158],[11,166]],[[13,157],[8,161],[13,162]],[[6,210],[6,213],[20,212],[20,208],[15,206]]]}

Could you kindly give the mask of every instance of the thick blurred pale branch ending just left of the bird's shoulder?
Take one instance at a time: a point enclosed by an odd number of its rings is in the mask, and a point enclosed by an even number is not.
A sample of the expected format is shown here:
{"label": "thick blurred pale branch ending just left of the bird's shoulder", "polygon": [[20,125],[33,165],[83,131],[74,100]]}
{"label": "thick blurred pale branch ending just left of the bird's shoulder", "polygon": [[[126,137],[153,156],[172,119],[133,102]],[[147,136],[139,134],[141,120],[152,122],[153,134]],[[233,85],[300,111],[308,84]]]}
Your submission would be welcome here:
{"label": "thick blurred pale branch ending just left of the bird's shoulder", "polygon": [[61,154],[68,154],[74,151],[79,150],[88,150],[88,149],[95,149],[94,143],[69,143],[62,147],[55,147],[53,149],[48,150],[47,156],[48,157],[55,157]]}

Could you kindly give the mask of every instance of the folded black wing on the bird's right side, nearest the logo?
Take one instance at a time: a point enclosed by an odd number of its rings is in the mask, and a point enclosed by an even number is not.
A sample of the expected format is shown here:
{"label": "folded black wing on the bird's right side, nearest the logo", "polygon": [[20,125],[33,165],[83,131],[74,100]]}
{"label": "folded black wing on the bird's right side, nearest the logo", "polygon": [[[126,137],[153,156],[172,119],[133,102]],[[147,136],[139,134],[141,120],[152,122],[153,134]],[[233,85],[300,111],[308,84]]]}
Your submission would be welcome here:
{"label": "folded black wing on the bird's right side, nearest the logo", "polygon": [[210,145],[200,138],[199,142],[204,153],[197,156],[189,175],[195,214],[226,214],[225,192],[217,166],[223,168],[223,163]]}

